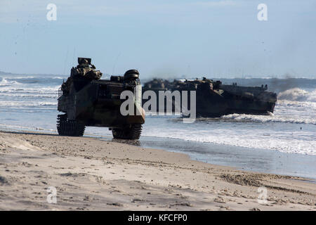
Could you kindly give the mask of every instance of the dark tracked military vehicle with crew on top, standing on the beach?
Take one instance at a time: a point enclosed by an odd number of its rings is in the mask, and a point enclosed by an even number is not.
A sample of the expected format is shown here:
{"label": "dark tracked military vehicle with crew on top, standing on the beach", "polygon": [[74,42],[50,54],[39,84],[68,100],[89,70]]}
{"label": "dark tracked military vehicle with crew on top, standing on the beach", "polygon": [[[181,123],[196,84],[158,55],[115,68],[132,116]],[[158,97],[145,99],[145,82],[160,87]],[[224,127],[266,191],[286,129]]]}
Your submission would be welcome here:
{"label": "dark tracked military vehicle with crew on top, standing on the beach", "polygon": [[[57,130],[61,136],[83,136],[86,126],[109,127],[115,139],[139,139],[145,112],[141,100],[134,98],[140,113],[121,115],[121,92],[141,91],[139,72],[128,70],[124,76],[100,79],[102,73],[91,64],[91,58],[78,58],[67,82],[60,87]],[[140,89],[140,90],[139,90]],[[140,92],[141,93],[141,92]]]}

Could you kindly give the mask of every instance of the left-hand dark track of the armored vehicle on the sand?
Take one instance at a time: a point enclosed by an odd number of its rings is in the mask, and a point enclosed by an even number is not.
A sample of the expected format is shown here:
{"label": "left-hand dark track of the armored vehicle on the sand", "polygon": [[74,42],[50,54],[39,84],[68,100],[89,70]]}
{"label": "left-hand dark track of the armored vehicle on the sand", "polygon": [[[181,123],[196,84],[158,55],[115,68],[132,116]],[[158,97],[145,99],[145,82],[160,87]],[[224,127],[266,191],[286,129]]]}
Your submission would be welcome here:
{"label": "left-hand dark track of the armored vehicle on the sand", "polygon": [[60,136],[83,136],[86,126],[77,120],[68,120],[67,114],[57,116],[57,131]]}

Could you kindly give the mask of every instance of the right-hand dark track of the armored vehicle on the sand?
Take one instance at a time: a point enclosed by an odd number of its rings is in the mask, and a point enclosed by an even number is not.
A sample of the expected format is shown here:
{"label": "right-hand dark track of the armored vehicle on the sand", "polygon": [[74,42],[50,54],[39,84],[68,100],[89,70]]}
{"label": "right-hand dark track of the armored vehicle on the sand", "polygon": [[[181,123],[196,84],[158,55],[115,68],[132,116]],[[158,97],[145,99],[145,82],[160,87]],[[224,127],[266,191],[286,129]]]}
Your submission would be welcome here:
{"label": "right-hand dark track of the armored vehicle on the sand", "polygon": [[131,124],[131,127],[126,127],[124,129],[112,129],[114,139],[138,140],[141,133],[142,124]]}

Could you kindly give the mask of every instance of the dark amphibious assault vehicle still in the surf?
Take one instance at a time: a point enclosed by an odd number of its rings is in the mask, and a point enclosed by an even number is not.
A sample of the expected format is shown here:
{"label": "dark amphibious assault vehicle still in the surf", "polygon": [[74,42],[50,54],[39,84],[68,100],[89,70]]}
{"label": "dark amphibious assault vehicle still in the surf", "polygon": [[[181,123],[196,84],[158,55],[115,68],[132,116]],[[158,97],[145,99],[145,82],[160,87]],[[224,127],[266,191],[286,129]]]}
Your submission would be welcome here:
{"label": "dark amphibious assault vehicle still in the surf", "polygon": [[[254,115],[273,113],[277,94],[268,92],[267,89],[267,85],[238,86],[237,83],[223,85],[220,81],[213,81],[205,77],[185,81],[175,79],[173,82],[153,79],[145,83],[143,87],[143,91],[154,91],[157,96],[159,91],[180,91],[180,93],[188,91],[189,96],[190,91],[196,91],[196,115],[199,117],[220,117],[232,113]],[[190,98],[188,101],[190,108]],[[172,105],[174,109],[174,99],[172,99]]]}

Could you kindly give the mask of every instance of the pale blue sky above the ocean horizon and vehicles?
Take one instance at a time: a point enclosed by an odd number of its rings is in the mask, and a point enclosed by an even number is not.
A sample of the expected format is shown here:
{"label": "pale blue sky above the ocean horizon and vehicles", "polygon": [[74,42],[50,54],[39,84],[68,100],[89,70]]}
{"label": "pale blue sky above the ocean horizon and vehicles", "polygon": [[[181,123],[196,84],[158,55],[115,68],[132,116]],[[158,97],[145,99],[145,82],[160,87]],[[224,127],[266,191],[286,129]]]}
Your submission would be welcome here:
{"label": "pale blue sky above the ocean horizon and vehicles", "polygon": [[316,78],[315,11],[315,0],[1,0],[0,70],[65,75],[82,56],[111,75]]}

